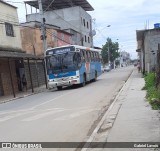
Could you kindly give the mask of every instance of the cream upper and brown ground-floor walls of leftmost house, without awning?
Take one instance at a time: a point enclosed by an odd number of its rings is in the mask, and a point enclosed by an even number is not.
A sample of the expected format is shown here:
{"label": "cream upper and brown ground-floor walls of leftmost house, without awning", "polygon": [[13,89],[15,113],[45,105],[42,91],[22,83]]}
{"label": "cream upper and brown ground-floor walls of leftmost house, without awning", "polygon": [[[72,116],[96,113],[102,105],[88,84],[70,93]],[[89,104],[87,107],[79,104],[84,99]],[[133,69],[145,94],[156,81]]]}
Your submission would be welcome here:
{"label": "cream upper and brown ground-floor walls of leftmost house, without awning", "polygon": [[[22,52],[17,8],[0,1],[0,52]],[[0,96],[12,94],[11,80],[15,91],[18,91],[16,68],[18,62],[0,56]],[[10,72],[12,77],[10,77]]]}

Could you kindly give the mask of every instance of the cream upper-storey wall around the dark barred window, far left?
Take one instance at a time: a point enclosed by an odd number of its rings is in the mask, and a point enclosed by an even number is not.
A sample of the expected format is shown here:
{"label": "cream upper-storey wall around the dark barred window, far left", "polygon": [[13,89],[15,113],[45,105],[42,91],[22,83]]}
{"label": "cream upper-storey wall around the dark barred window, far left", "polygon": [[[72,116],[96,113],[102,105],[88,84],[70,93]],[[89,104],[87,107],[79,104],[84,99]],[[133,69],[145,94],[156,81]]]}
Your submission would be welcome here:
{"label": "cream upper-storey wall around the dark barred window, far left", "polygon": [[[13,25],[14,37],[6,35],[5,22]],[[21,37],[17,9],[0,1],[0,48],[21,50]]]}

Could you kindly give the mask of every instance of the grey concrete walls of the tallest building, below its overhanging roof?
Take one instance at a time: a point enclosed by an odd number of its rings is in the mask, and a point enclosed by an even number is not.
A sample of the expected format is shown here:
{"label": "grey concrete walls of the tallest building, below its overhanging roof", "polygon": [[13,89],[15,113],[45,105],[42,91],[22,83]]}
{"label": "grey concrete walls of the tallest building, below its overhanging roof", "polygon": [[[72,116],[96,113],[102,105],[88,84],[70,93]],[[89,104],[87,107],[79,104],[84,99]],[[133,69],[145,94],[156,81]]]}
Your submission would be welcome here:
{"label": "grey concrete walls of the tallest building, below its overhanging roof", "polygon": [[[71,28],[77,31],[78,33],[81,33],[81,38],[83,38],[84,41],[83,45],[87,47],[92,46],[92,39],[89,36],[89,33],[92,29],[91,16],[81,7],[76,6],[54,11],[47,11],[45,12],[44,17],[46,19],[46,24],[59,26],[62,30]],[[26,20],[27,22],[40,21],[40,16],[38,13],[29,14],[26,17]],[[73,35],[73,37],[74,36],[76,35]],[[85,41],[85,36],[86,36],[86,41]],[[81,40],[75,41],[75,43],[81,45]]]}

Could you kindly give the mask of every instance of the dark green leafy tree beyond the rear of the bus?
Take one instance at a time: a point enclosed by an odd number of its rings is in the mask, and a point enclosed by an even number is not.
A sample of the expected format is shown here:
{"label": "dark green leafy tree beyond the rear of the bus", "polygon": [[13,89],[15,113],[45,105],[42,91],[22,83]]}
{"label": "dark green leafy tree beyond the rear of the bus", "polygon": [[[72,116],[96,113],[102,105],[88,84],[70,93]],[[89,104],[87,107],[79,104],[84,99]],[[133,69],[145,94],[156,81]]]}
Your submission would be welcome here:
{"label": "dark green leafy tree beyond the rear of the bus", "polygon": [[102,46],[102,61],[103,64],[108,63],[108,48],[110,53],[110,61],[115,61],[116,58],[119,57],[119,43],[112,42],[111,38],[107,38],[105,45]]}

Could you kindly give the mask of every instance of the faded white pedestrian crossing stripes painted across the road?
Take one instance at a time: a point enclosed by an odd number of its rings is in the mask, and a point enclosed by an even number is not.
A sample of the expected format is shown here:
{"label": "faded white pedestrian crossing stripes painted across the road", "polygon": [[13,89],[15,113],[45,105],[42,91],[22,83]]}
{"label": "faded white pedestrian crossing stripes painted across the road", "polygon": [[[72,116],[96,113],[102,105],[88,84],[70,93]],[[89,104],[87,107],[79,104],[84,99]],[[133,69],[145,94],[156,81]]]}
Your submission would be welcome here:
{"label": "faded white pedestrian crossing stripes painted across the road", "polygon": [[26,109],[17,111],[0,112],[0,123],[10,120],[16,120],[21,122],[32,122],[37,120],[43,120],[52,116],[52,120],[70,120],[89,114],[100,109],[92,108],[49,108],[49,109]]}

